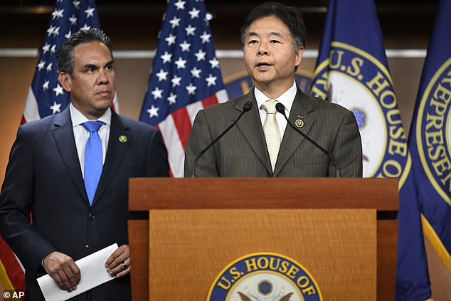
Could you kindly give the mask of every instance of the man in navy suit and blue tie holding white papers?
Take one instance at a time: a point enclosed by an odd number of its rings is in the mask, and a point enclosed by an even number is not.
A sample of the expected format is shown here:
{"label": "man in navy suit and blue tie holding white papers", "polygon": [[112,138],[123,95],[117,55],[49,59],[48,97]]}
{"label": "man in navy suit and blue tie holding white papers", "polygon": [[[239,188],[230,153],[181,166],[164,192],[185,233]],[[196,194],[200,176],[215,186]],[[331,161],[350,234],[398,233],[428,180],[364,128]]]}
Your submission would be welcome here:
{"label": "man in navy suit and blue tie holding white papers", "polygon": [[[154,127],[111,109],[115,65],[105,33],[73,34],[57,62],[71,104],[60,114],[19,127],[1,187],[1,235],[26,269],[26,300],[43,300],[36,279],[44,273],[62,290],[76,290],[80,269],[75,260],[112,243],[119,248],[105,269],[117,279],[73,300],[131,300],[128,179],[169,176],[166,148]],[[83,123],[93,120],[102,122],[97,133],[103,165],[90,194],[84,182],[90,132]]]}

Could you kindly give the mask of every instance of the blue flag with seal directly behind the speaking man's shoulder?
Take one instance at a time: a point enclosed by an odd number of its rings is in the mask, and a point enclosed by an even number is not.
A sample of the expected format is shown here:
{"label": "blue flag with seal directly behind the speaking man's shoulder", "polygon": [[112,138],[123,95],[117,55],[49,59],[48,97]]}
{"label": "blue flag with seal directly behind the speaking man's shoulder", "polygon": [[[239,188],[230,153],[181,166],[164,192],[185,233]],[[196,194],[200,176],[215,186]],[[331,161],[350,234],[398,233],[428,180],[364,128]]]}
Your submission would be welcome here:
{"label": "blue flag with seal directly behind the speaking man's shoulder", "polygon": [[356,116],[364,177],[401,177],[406,135],[373,0],[331,0],[310,94]]}

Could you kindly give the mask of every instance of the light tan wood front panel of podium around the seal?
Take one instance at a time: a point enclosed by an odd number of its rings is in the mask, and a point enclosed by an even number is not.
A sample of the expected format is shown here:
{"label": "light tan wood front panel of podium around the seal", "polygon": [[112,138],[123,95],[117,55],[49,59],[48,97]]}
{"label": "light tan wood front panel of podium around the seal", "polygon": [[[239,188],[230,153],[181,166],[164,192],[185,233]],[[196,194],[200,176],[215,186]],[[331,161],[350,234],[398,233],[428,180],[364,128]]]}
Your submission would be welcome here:
{"label": "light tan wood front panel of podium around the seal", "polygon": [[259,252],[297,260],[323,300],[376,300],[375,210],[159,210],[149,219],[150,241],[158,241],[149,300],[206,300],[223,268]]}

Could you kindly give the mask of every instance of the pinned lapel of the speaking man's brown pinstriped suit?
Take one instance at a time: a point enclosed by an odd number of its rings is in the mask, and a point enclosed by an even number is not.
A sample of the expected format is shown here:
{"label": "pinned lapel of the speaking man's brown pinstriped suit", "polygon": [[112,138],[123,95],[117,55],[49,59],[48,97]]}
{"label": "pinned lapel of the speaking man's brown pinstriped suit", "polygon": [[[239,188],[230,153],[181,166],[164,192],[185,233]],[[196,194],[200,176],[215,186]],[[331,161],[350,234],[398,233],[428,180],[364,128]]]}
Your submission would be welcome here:
{"label": "pinned lapel of the speaking man's brown pinstriped suit", "polygon": [[[292,125],[295,125],[296,120],[302,120],[304,125],[298,127],[301,132],[308,134],[310,128],[314,124],[315,120],[309,117],[309,112],[312,112],[314,107],[310,102],[309,97],[302,93],[297,88],[297,93],[293,105],[290,110],[290,117],[288,118]],[[282,168],[287,164],[288,159],[292,157],[299,145],[304,141],[304,137],[297,133],[295,130],[287,125],[285,133],[283,135],[282,142],[280,144],[280,151],[277,155],[277,163],[275,164],[274,175],[277,176]]]}

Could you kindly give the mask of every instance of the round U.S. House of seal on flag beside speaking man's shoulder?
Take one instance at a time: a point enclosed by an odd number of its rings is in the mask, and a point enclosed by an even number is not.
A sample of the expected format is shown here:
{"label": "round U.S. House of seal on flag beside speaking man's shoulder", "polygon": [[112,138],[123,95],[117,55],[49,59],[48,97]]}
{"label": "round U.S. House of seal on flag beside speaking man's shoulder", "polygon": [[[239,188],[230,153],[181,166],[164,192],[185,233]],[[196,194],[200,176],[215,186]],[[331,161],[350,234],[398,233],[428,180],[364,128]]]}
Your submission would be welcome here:
{"label": "round U.S. House of seal on flag beside speaking man's shoulder", "polygon": [[362,139],[364,177],[398,177],[407,142],[388,69],[378,58],[346,43],[332,42],[319,64],[312,95],[329,98],[356,116]]}

